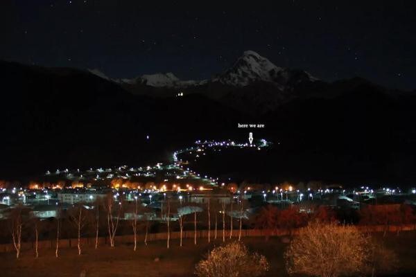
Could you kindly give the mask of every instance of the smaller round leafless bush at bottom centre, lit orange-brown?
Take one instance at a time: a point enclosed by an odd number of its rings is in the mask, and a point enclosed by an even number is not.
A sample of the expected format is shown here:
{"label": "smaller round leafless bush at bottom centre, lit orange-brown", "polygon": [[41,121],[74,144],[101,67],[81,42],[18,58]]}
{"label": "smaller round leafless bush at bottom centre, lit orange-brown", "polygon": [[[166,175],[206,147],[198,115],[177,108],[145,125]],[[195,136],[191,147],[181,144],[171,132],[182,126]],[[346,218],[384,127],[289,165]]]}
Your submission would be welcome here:
{"label": "smaller round leafless bush at bottom centre, lit orange-brown", "polygon": [[214,248],[207,259],[198,262],[195,274],[199,277],[257,277],[268,269],[264,256],[250,253],[241,242],[231,242]]}

